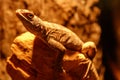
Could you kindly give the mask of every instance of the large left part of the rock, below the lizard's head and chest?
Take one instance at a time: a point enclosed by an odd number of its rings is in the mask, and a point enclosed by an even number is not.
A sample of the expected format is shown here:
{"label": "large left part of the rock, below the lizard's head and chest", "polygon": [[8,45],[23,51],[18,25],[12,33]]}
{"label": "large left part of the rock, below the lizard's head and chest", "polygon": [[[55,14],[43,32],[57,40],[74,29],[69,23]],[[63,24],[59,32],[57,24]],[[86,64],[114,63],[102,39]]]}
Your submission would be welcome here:
{"label": "large left part of the rock, below the lizard's head and chest", "polygon": [[53,80],[56,54],[40,39],[27,32],[14,40],[11,50],[7,71],[13,80]]}

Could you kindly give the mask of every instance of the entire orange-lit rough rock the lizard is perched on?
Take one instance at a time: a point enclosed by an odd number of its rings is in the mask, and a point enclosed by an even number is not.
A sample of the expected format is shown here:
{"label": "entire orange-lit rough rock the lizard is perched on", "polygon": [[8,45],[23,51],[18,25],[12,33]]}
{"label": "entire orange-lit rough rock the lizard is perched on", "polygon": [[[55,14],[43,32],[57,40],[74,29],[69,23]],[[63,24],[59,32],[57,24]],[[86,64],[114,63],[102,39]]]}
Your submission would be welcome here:
{"label": "entire orange-lit rough rock the lizard is perched on", "polygon": [[[18,36],[12,46],[13,55],[7,60],[7,72],[12,80],[97,80],[91,60],[79,52],[67,52],[63,58],[63,73],[53,67],[58,52],[50,49],[33,34]],[[90,69],[87,68],[92,63]],[[87,73],[87,74],[86,74]],[[84,78],[84,76],[87,77]]]}

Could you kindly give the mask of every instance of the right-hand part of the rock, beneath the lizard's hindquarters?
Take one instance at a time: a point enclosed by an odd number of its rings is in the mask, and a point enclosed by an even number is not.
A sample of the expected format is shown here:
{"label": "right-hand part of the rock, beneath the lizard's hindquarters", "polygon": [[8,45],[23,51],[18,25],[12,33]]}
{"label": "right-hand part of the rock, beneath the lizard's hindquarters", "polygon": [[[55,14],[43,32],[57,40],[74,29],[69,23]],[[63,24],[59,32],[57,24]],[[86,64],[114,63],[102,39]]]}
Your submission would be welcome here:
{"label": "right-hand part of the rock, beneath the lizard's hindquarters", "polygon": [[99,80],[98,73],[92,61],[79,52],[66,53],[63,58],[63,68],[71,80]]}

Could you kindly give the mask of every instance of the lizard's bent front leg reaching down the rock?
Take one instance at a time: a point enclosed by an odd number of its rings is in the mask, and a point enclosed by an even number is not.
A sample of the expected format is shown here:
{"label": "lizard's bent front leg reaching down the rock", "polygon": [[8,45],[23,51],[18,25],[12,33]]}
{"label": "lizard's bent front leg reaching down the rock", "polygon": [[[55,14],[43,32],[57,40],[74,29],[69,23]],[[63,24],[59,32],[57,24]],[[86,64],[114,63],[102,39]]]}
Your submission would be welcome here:
{"label": "lizard's bent front leg reaching down the rock", "polygon": [[56,41],[53,38],[49,38],[48,44],[60,52],[58,54],[54,68],[57,72],[62,72],[62,59],[63,59],[64,53],[66,51],[66,48],[60,42]]}

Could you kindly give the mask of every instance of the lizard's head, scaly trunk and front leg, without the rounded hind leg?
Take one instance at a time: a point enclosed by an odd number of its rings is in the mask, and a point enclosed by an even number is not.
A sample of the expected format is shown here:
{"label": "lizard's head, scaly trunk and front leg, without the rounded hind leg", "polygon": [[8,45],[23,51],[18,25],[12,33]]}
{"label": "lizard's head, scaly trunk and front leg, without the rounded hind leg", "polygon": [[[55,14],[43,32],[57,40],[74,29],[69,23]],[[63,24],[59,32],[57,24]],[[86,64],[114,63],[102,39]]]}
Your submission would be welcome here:
{"label": "lizard's head, scaly trunk and front leg, without the rounded hind leg", "polygon": [[[29,32],[36,35],[49,47],[52,47],[60,52],[56,60],[58,71],[62,70],[61,61],[66,50],[81,51],[84,42],[65,26],[43,21],[32,11],[27,9],[17,9],[16,15]],[[83,51],[84,49],[86,48],[83,47]]]}

